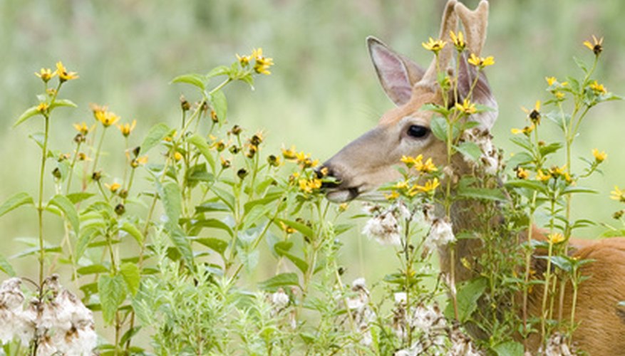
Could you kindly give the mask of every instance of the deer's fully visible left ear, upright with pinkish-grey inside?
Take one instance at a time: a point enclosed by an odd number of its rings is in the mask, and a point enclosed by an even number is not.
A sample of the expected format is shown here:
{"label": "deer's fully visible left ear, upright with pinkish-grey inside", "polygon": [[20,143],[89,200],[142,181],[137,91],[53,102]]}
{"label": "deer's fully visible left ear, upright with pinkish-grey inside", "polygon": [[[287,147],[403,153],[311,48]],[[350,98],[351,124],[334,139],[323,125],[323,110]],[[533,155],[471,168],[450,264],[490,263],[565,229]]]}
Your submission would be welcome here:
{"label": "deer's fully visible left ear, upright with pinkish-grey inside", "polygon": [[421,78],[425,70],[417,63],[396,53],[375,37],[367,38],[367,46],[373,66],[376,68],[382,88],[393,103],[408,103],[413,85]]}

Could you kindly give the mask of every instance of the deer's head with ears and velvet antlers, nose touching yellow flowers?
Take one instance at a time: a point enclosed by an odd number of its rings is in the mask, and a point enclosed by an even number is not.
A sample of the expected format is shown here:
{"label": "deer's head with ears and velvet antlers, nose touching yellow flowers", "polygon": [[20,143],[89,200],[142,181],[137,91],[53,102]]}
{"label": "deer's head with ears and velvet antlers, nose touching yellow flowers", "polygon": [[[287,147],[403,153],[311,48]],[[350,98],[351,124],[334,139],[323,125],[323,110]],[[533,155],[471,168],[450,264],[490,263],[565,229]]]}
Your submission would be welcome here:
{"label": "deer's head with ears and velvet antlers, nose touching yellow flowers", "polygon": [[[457,31],[460,18],[468,51],[479,56],[486,37],[487,16],[486,0],[482,0],[474,11],[456,0],[449,0],[443,13],[439,38],[450,42],[450,31]],[[327,197],[332,201],[348,201],[366,196],[372,194],[379,185],[398,179],[401,176],[395,166],[404,155],[431,157],[437,165],[445,162],[445,143],[430,132],[433,112],[421,110],[427,103],[443,105],[443,93],[436,79],[438,70],[446,70],[450,78],[454,78],[454,70],[458,68],[458,100],[468,95],[471,83],[479,75],[470,100],[472,103],[497,108],[485,75],[469,66],[466,56],[460,59],[460,63],[453,63],[455,48],[451,44],[438,53],[438,63],[434,58],[427,69],[396,53],[376,38],[367,38],[367,45],[382,88],[396,104],[396,108],[382,115],[373,130],[349,143],[323,164],[322,167],[326,167],[329,175],[337,182],[326,185],[329,188]],[[448,97],[453,98],[454,95]],[[496,117],[495,110],[471,115],[469,120],[475,120],[482,129],[490,130]],[[462,159],[455,161],[461,165]]]}

